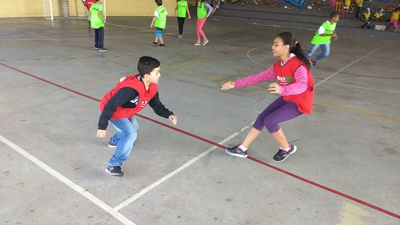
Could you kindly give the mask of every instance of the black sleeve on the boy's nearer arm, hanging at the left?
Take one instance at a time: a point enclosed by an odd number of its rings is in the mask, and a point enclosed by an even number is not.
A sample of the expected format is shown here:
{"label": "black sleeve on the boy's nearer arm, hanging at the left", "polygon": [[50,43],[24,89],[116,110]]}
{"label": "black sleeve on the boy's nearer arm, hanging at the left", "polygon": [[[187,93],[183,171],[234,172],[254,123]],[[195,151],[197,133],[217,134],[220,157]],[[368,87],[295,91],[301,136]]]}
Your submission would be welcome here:
{"label": "black sleeve on the boy's nearer arm, hanging at the left", "polygon": [[104,106],[99,118],[98,129],[106,130],[108,126],[108,121],[111,119],[112,114],[117,110],[117,106],[121,106],[126,102],[129,102],[130,100],[136,98],[138,95],[139,92],[131,87],[123,87],[119,89]]}

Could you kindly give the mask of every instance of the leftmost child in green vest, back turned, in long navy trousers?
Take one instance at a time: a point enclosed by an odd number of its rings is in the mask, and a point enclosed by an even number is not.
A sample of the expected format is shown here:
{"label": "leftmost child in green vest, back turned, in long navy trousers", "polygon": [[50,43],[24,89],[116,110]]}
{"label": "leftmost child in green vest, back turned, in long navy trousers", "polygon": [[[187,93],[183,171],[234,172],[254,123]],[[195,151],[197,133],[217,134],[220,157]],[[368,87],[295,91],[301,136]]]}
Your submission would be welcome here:
{"label": "leftmost child in green vest, back turned, in long navy trousers", "polygon": [[96,3],[90,7],[89,15],[90,26],[94,28],[94,48],[100,52],[108,50],[104,48],[104,24],[106,23],[106,18],[104,18],[102,4],[103,0],[96,0]]}

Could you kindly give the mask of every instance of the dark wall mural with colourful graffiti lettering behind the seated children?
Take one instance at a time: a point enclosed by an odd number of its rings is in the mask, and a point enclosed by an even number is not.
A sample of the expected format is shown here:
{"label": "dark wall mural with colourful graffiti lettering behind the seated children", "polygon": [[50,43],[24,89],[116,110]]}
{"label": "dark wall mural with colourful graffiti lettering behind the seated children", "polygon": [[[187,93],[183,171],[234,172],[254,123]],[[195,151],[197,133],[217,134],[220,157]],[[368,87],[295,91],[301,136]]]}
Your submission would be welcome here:
{"label": "dark wall mural with colourful graffiti lettering behind the seated children", "polygon": [[[294,14],[329,14],[332,11],[341,13],[344,0],[225,0],[221,8],[235,8],[266,12],[293,12]],[[355,0],[351,0],[349,14],[354,15]],[[370,8],[372,15],[378,8],[384,9],[384,18],[390,17],[395,8],[400,7],[400,0],[364,0],[361,13]],[[354,17],[354,16],[353,16]],[[349,18],[352,18],[349,16]]]}

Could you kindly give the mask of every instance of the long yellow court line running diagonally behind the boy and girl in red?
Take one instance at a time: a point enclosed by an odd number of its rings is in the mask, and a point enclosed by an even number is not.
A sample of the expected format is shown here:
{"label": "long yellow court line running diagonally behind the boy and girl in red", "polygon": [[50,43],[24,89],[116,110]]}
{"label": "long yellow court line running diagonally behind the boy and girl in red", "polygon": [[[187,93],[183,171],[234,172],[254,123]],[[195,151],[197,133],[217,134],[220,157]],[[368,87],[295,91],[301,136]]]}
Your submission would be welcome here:
{"label": "long yellow court line running diagonally behind the boy and girl in red", "polygon": [[[33,35],[39,36],[39,37],[41,37],[41,38],[47,38],[47,37],[40,36],[40,35],[37,35],[37,34],[33,34]],[[52,40],[56,40],[56,41],[64,42],[64,43],[68,43],[68,44],[73,44],[73,45],[80,46],[80,47],[84,47],[84,48],[90,48],[90,47],[88,47],[88,46],[83,46],[83,45],[80,45],[80,44],[74,44],[74,43],[71,43],[71,42],[65,42],[65,41],[57,40],[57,39],[53,39],[53,38],[48,38],[48,39],[52,39]],[[92,49],[92,48],[90,48],[90,49]],[[116,54],[116,53],[114,53],[114,52],[109,52],[109,51],[107,51],[106,53],[108,53],[108,54],[113,54],[113,55],[116,55],[116,56],[121,56],[121,57],[124,57],[124,58],[130,58],[130,59],[134,59],[134,60],[139,60],[138,58],[133,58],[133,57],[130,57],[130,56],[125,56],[125,55],[121,55],[121,54]],[[197,73],[197,72],[191,72],[191,71],[188,71],[188,70],[181,70],[181,69],[174,68],[174,67],[170,67],[170,66],[164,66],[164,65],[161,65],[161,66],[163,66],[163,67],[165,67],[165,68],[170,68],[170,69],[173,69],[173,70],[178,70],[178,71],[187,72],[187,73],[191,73],[191,74],[195,74],[195,75],[199,75],[199,76],[204,76],[204,77],[207,77],[207,78],[212,78],[212,79],[215,79],[215,80],[222,80],[222,81],[226,81],[226,82],[229,81],[229,80],[224,80],[224,79],[221,79],[221,78],[218,78],[218,77],[215,77],[215,76],[208,76],[208,75],[205,75],[205,74],[201,74],[201,73]],[[266,90],[266,91],[269,91],[269,92],[270,92],[270,90],[265,89],[265,88],[259,88],[259,87],[255,87],[255,86],[248,86],[248,87],[250,87],[250,88],[255,88],[255,89],[259,89],[259,90]],[[382,118],[382,119],[387,119],[387,120],[391,120],[391,121],[400,122],[400,120],[398,120],[398,119],[394,119],[394,118],[390,118],[390,117],[385,117],[385,116],[378,115],[378,114],[374,114],[374,113],[370,113],[370,112],[365,112],[365,111],[358,110],[358,109],[355,109],[355,108],[348,108],[348,107],[345,107],[345,106],[340,106],[340,105],[337,105],[337,104],[332,104],[332,103],[329,103],[329,102],[323,102],[323,101],[319,101],[319,100],[314,100],[314,102],[318,102],[318,103],[326,104],[326,105],[330,105],[330,106],[335,106],[335,107],[338,107],[338,108],[343,108],[343,109],[351,110],[351,111],[354,111],[354,112],[360,112],[360,113],[364,113],[364,114],[366,114],[366,115],[370,115],[370,116],[374,116],[374,117],[379,117],[379,118]]]}

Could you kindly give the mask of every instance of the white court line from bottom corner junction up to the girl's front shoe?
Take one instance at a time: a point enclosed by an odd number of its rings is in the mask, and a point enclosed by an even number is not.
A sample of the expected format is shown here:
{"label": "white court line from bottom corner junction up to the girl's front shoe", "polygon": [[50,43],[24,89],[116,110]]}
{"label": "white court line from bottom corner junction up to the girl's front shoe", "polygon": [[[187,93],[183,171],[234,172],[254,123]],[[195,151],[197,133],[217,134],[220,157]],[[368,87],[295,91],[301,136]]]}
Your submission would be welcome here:
{"label": "white court line from bottom corner junction up to the girl's front shoe", "polygon": [[[245,126],[247,127],[247,125]],[[245,127],[243,127],[242,129],[244,129]],[[238,135],[238,132],[233,133],[232,135],[230,135],[229,137],[225,138],[224,140],[218,142],[219,145],[224,144],[225,142],[229,141],[230,139],[236,137],[236,135]],[[170,179],[171,177],[173,177],[174,175],[176,175],[177,173],[179,173],[180,171],[182,171],[183,169],[185,169],[186,167],[192,165],[194,162],[198,161],[199,159],[201,159],[202,157],[204,157],[205,155],[207,155],[208,153],[210,153],[211,151],[213,151],[214,149],[218,148],[218,146],[213,145],[212,147],[210,147],[209,149],[207,149],[206,151],[200,153],[199,155],[197,155],[196,157],[194,157],[193,159],[191,159],[190,161],[188,161],[187,163],[185,163],[184,165],[176,168],[174,171],[168,173],[167,175],[165,175],[164,177],[162,177],[161,179],[159,179],[158,181],[152,183],[151,185],[145,187],[144,189],[142,189],[141,191],[139,191],[138,193],[136,193],[135,195],[132,195],[132,197],[129,197],[128,199],[126,199],[125,201],[123,201],[122,203],[118,204],[116,207],[114,207],[109,213],[113,214],[114,212],[118,212],[120,209],[122,209],[123,207],[127,206],[129,203],[132,203],[133,201],[135,201],[136,199],[140,198],[142,195],[146,194],[148,191],[154,189],[155,187],[157,187],[158,185],[160,185],[161,183],[163,183],[164,181]]]}

